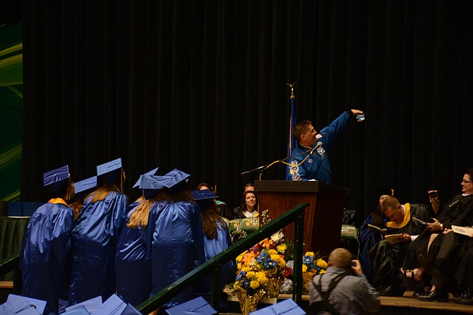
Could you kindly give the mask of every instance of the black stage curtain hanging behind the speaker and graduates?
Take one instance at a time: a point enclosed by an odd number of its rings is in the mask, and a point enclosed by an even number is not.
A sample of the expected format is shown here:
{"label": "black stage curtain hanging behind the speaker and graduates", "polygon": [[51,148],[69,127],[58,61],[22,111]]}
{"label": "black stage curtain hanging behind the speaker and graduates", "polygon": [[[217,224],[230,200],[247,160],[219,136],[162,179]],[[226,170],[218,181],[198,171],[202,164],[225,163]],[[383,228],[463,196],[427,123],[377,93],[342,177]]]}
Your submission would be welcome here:
{"label": "black stage curtain hanging behind the speaker and graduates", "polygon": [[[473,167],[473,2],[23,1],[21,196],[117,157],[128,177],[174,167],[240,202],[239,174],[286,156],[297,120],[366,111],[328,149],[358,220],[380,186],[401,202],[460,192]],[[276,163],[263,179],[284,179]]]}

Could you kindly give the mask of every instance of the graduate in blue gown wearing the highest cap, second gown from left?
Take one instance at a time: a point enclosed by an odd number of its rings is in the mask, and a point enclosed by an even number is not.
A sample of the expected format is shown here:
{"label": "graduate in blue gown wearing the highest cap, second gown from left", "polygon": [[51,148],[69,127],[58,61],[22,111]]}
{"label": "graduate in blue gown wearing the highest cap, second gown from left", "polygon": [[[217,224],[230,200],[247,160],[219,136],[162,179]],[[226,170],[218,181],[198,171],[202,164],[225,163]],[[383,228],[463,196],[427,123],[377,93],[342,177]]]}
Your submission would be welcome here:
{"label": "graduate in blue gown wearing the highest cap, second gown from left", "polygon": [[123,191],[121,159],[97,166],[100,188],[84,201],[72,231],[73,262],[69,304],[115,293],[115,248],[125,220],[128,198]]}

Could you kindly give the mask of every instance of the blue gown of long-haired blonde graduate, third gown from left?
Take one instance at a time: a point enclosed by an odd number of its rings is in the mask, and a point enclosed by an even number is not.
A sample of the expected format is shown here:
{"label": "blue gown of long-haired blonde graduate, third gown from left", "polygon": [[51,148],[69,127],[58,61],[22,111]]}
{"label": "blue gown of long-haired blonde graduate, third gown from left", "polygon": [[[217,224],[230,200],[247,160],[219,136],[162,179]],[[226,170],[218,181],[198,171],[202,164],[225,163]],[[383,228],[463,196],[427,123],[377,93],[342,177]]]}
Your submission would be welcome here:
{"label": "blue gown of long-haired blonde graduate, third gown from left", "polygon": [[[133,203],[131,205],[133,208],[128,212],[128,219],[139,204]],[[124,302],[134,307],[150,297],[152,287],[151,238],[155,226],[152,220],[156,218],[153,213],[159,208],[157,202],[152,205],[150,215],[148,215],[148,225],[144,228],[127,227],[128,220],[126,220],[116,244],[116,293]]]}

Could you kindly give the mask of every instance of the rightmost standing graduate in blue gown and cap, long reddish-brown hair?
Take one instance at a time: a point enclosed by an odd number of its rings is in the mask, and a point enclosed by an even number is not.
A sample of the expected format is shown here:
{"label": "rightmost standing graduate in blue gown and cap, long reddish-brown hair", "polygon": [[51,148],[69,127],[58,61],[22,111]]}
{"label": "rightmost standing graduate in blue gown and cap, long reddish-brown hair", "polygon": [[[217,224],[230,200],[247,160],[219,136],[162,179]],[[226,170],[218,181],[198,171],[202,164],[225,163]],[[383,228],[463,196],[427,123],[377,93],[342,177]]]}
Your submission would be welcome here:
{"label": "rightmost standing graduate in blue gown and cap, long reddish-brown hair", "polygon": [[[208,189],[191,191],[191,194],[197,202],[202,215],[205,260],[209,260],[227,249],[232,244],[232,239],[230,238],[227,224],[217,212],[215,198],[218,196]],[[234,278],[235,266],[235,261],[231,260],[224,263],[222,268],[220,268],[221,290]],[[198,285],[194,286],[194,293],[204,297],[208,302],[210,302],[211,280],[212,275],[209,274]],[[220,309],[227,309],[227,307],[227,294],[221,291]]]}

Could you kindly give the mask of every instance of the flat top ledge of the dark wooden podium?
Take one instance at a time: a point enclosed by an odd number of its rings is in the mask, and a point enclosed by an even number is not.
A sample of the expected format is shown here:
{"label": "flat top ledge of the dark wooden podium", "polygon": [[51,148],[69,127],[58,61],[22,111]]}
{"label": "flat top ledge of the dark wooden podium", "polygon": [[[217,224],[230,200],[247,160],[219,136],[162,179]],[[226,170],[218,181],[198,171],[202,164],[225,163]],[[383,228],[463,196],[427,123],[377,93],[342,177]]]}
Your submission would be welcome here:
{"label": "flat top ledge of the dark wooden podium", "polygon": [[322,181],[255,181],[256,192],[349,193],[349,189]]}

